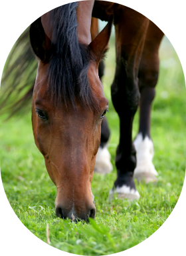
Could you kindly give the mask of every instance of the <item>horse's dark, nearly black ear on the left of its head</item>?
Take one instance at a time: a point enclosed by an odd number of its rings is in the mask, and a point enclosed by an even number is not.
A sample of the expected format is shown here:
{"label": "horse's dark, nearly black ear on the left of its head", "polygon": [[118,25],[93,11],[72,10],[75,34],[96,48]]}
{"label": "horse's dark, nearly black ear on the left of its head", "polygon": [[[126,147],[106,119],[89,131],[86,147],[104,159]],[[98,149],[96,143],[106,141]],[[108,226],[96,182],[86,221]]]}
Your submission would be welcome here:
{"label": "horse's dark, nearly black ear on the left of its head", "polygon": [[46,36],[41,23],[41,17],[31,23],[30,41],[33,51],[41,61],[47,63],[50,59],[50,39]]}

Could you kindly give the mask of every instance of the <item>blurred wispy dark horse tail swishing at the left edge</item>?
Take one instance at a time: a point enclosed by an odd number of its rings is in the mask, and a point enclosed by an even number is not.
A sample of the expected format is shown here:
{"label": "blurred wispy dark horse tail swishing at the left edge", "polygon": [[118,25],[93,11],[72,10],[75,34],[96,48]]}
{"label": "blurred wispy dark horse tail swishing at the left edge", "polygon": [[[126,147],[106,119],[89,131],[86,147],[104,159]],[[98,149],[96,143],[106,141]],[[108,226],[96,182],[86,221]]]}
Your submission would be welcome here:
{"label": "blurred wispy dark horse tail swishing at the left edge", "polygon": [[13,45],[1,77],[0,113],[15,113],[26,110],[33,96],[37,59],[31,49],[29,27]]}

